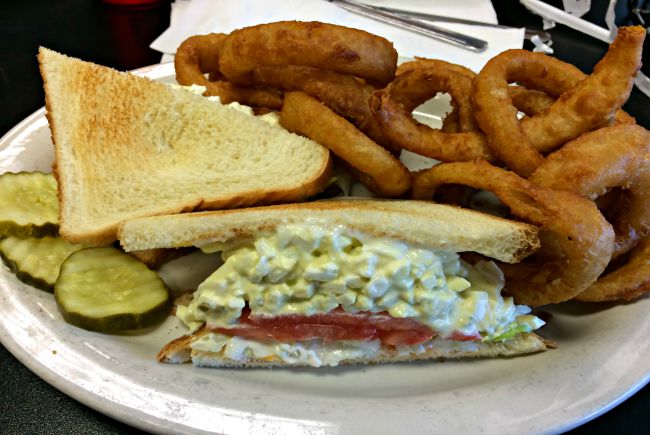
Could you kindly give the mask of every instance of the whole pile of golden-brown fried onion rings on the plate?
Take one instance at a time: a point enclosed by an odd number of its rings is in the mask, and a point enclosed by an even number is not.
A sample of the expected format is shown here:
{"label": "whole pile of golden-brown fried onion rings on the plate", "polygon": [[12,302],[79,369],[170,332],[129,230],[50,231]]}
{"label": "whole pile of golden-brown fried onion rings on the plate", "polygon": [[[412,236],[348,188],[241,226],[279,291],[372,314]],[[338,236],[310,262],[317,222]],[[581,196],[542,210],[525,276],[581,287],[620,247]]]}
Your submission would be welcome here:
{"label": "whole pile of golden-brown fried onion rings on the plate", "polygon": [[[175,68],[224,103],[279,111],[377,196],[469,206],[472,191],[493,192],[508,218],[540,228],[536,254],[502,265],[515,301],[538,306],[650,291],[650,133],[621,109],[644,38],[620,28],[590,75],[526,50],[477,73],[421,57],[397,66],[382,37],[285,21],[191,37]],[[438,93],[452,106],[439,129],[413,116]],[[410,173],[403,150],[443,163]]]}

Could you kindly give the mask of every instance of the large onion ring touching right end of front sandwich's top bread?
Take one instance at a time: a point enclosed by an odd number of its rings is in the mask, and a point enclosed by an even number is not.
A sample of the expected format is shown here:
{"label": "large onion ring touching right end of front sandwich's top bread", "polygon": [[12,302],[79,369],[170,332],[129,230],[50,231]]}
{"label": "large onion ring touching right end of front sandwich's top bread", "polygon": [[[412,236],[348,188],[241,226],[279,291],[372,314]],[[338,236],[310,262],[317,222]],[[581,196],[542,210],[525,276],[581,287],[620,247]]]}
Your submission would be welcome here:
{"label": "large onion ring touching right end of front sandwich's top bread", "polygon": [[503,268],[506,288],[518,303],[538,306],[566,301],[605,270],[614,231],[592,201],[537,186],[484,161],[441,163],[420,172],[413,180],[412,196],[430,199],[446,184],[493,192],[512,214],[540,227],[542,247],[534,254],[540,263]]}

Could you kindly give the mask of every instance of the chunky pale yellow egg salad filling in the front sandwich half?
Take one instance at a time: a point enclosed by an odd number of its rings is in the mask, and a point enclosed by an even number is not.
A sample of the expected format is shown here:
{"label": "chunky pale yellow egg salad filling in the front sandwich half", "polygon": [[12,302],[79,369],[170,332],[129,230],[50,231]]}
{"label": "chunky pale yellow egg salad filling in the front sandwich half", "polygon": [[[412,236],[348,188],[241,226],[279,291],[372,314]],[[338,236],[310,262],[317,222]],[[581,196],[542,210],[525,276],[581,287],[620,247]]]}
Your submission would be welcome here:
{"label": "chunky pale yellow egg salad filling in the front sandwich half", "polygon": [[[544,324],[530,308],[501,296],[504,277],[493,262],[471,265],[457,253],[342,226],[287,224],[273,234],[202,249],[221,251],[224,264],[189,305],[178,307],[177,317],[190,329],[236,325],[246,306],[251,316],[309,316],[337,308],[387,312],[417,320],[443,339],[462,333],[507,340]],[[219,337],[205,340],[212,340],[212,349],[225,346]]]}

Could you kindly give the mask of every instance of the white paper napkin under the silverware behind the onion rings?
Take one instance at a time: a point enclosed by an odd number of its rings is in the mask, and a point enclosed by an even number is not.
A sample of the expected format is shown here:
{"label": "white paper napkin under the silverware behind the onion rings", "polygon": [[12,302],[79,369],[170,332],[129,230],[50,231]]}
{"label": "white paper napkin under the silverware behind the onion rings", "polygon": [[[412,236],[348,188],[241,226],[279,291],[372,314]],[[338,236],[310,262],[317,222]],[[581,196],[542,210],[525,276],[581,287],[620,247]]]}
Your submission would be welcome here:
{"label": "white paper napkin under the silverware behind the onion rings", "polygon": [[[497,22],[489,0],[365,0],[364,3]],[[170,55],[192,35],[229,33],[241,27],[282,20],[322,21],[363,29],[392,41],[401,57],[442,59],[465,65],[474,71],[479,71],[490,58],[504,50],[521,48],[524,39],[524,29],[436,23],[440,27],[486,40],[487,50],[475,53],[353,14],[324,0],[176,0],[172,4],[170,27],[151,44],[151,48]],[[170,56],[163,57],[163,60],[170,59]]]}

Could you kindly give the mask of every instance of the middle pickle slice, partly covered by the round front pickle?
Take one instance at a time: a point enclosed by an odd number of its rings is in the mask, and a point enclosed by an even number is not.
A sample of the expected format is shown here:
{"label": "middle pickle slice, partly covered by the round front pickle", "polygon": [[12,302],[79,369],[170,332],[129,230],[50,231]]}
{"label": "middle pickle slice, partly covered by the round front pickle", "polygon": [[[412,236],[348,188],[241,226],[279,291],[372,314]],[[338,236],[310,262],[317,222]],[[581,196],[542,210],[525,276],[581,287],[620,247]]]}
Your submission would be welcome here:
{"label": "middle pickle slice, partly covered by the round front pickle", "polygon": [[68,243],[60,237],[7,237],[0,240],[0,257],[19,280],[51,292],[63,261],[85,247],[87,245]]}

